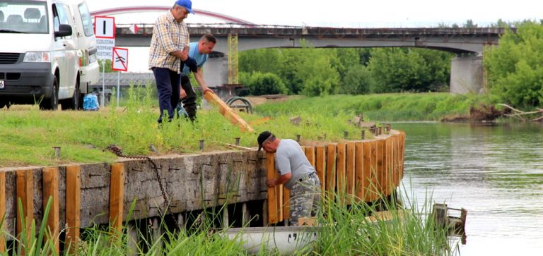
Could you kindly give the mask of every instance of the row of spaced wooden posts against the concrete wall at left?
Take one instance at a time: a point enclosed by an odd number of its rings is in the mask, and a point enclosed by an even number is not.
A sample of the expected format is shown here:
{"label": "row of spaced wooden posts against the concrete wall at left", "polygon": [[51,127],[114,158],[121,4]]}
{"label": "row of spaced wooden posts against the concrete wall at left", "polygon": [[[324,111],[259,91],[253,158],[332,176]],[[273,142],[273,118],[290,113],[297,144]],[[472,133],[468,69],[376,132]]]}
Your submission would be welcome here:
{"label": "row of spaced wooden posts against the concrete wall at left", "polygon": [[[34,215],[34,182],[33,170],[16,171],[16,198],[21,200],[22,207],[17,208],[16,233],[30,236],[30,228]],[[54,238],[55,249],[59,252],[60,229],[66,228],[66,245],[76,248],[79,240],[79,219],[81,214],[81,167],[66,166],[66,227],[59,226],[59,168],[45,167],[42,171],[43,209],[51,200],[48,213],[47,230]],[[17,202],[16,202],[17,203]],[[110,224],[115,231],[122,231],[122,212],[124,206],[124,164],[114,163],[111,166],[110,178]],[[21,209],[22,212],[21,212]],[[0,217],[6,216],[6,173],[0,171]],[[23,220],[19,218],[23,216]],[[5,225],[5,223],[4,223]],[[25,231],[25,232],[23,232]],[[4,232],[0,233],[0,252],[6,252]]]}

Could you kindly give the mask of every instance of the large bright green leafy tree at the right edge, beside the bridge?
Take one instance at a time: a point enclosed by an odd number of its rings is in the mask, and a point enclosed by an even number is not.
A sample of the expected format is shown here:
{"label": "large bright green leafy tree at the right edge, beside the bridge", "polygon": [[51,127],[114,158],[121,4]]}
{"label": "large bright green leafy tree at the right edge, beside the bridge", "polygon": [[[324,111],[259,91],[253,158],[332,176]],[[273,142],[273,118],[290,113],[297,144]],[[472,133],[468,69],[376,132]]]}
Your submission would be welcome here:
{"label": "large bright green leafy tree at the right edge, beside the bridge", "polygon": [[543,25],[525,22],[488,47],[484,65],[491,93],[520,108],[543,104]]}

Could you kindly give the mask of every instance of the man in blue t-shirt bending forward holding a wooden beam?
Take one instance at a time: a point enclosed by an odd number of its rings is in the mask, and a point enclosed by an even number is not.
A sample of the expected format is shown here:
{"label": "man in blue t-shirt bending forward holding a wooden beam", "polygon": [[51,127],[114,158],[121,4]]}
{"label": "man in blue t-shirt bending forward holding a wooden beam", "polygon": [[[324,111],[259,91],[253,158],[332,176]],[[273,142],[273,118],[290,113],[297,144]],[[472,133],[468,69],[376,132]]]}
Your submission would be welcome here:
{"label": "man in blue t-shirt bending forward holding a wooden beam", "polygon": [[[207,87],[206,81],[204,81],[204,73],[202,72],[202,66],[206,63],[208,55],[213,51],[217,40],[211,34],[203,35],[198,42],[192,42],[189,44],[189,57],[194,59],[197,63],[197,71],[192,71],[194,73],[194,78],[202,87],[202,95],[206,92],[212,92],[213,90]],[[191,121],[194,121],[196,117],[196,92],[192,89],[190,84],[189,73],[191,69],[185,65],[182,67],[181,71],[181,102],[183,107],[187,112],[188,117]]]}

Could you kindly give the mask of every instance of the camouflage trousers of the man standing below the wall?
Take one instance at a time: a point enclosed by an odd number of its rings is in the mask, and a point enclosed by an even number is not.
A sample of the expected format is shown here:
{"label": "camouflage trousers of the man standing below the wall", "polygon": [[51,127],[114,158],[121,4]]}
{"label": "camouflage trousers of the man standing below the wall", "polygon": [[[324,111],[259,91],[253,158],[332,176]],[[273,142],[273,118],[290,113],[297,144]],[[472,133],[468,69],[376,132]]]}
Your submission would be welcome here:
{"label": "camouflage trousers of the man standing below the wall", "polygon": [[289,204],[291,226],[298,226],[300,217],[317,216],[320,205],[320,181],[316,173],[311,173],[294,183]]}

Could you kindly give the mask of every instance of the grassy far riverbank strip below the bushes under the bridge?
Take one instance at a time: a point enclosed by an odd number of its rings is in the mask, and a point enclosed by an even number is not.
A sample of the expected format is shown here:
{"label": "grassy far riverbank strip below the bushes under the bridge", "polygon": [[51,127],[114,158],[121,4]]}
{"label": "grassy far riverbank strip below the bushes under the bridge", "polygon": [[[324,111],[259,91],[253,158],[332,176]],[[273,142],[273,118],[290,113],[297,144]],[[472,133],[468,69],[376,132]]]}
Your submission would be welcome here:
{"label": "grassy far riverbank strip below the bushes under the bridge", "polygon": [[448,92],[390,93],[296,97],[281,103],[260,104],[255,109],[263,116],[304,112],[326,116],[349,113],[363,114],[366,120],[372,121],[440,121],[447,116],[469,117],[472,106],[487,102],[491,100],[481,95],[452,95]]}

